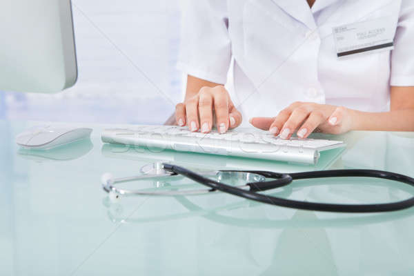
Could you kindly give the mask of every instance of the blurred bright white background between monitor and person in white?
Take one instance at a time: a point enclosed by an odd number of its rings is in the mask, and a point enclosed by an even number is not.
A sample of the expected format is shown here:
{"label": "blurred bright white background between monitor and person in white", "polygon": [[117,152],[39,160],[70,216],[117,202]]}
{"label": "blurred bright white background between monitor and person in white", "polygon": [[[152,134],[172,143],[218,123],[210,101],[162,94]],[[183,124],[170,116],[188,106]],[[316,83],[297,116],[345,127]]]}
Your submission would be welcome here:
{"label": "blurred bright white background between monitor and person in white", "polygon": [[78,81],[54,95],[0,91],[0,119],[162,124],[182,98],[180,0],[72,0]]}

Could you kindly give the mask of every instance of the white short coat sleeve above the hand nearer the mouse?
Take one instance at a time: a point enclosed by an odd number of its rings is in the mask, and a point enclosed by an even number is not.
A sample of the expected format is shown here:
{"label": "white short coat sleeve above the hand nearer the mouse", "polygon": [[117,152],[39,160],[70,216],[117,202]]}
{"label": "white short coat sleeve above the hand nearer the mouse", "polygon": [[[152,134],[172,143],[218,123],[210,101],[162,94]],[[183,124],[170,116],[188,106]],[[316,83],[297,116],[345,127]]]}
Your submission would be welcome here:
{"label": "white short coat sleeve above the hand nearer the mouse", "polygon": [[231,60],[227,1],[184,2],[182,24],[177,68],[199,79],[226,83]]}

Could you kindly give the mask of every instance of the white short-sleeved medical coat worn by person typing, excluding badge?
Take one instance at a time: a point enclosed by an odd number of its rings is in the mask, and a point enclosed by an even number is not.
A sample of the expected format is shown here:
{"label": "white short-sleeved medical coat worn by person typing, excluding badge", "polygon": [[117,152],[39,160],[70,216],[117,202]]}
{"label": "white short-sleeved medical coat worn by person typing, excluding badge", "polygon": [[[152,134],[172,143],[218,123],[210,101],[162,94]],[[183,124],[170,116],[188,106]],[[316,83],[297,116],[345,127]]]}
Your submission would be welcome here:
{"label": "white short-sleeved medical coat worn by person typing, excluding badge", "polygon": [[[333,27],[382,17],[394,50],[337,58]],[[244,123],[293,101],[386,111],[390,86],[414,86],[413,0],[190,0],[183,24],[178,67],[227,83]]]}

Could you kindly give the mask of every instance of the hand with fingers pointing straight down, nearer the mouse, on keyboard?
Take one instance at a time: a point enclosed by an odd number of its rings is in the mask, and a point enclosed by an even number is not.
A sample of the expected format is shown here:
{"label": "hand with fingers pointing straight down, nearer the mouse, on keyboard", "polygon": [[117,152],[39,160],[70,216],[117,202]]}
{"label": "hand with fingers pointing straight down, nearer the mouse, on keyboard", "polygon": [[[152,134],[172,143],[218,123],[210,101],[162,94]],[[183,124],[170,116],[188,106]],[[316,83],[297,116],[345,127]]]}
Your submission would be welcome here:
{"label": "hand with fingers pointing straight down, nearer the mouse, on keyboard", "polygon": [[213,112],[220,133],[242,123],[242,113],[237,110],[224,86],[203,87],[199,92],[175,107],[175,120],[179,126],[187,125],[191,131],[210,132]]}

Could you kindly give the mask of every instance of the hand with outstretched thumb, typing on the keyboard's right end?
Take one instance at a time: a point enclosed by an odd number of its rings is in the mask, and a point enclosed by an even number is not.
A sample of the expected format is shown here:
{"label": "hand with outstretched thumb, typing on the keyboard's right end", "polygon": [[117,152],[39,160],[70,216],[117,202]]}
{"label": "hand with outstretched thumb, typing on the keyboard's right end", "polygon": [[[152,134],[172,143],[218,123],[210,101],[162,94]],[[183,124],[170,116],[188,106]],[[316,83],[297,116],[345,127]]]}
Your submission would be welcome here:
{"label": "hand with outstretched thumb, typing on the keyboard's right end", "polygon": [[299,138],[306,138],[314,130],[340,134],[351,130],[351,110],[343,106],[297,101],[285,108],[276,117],[255,117],[250,124],[262,130],[289,139],[297,130]]}

